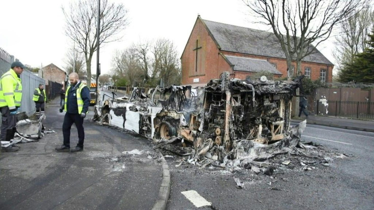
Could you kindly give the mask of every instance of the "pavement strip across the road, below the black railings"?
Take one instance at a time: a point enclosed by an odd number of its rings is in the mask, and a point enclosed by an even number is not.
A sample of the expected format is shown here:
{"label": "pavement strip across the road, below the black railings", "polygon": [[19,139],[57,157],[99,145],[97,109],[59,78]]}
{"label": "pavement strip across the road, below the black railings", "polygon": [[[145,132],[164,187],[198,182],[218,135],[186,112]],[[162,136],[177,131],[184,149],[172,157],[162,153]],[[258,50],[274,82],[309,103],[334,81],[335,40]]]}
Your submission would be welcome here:
{"label": "pavement strip across the road, below the black railings", "polygon": [[[293,118],[291,122],[301,122],[305,116],[301,118]],[[309,115],[306,119],[307,124],[323,125],[336,128],[344,128],[350,130],[361,130],[374,132],[374,120],[357,120],[341,117],[324,117]]]}

